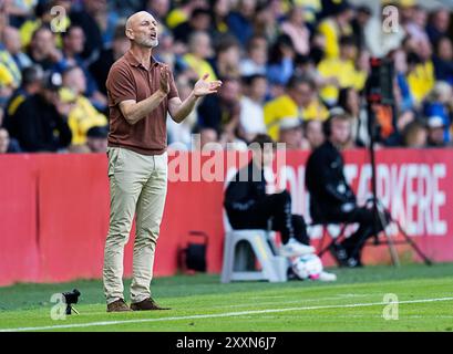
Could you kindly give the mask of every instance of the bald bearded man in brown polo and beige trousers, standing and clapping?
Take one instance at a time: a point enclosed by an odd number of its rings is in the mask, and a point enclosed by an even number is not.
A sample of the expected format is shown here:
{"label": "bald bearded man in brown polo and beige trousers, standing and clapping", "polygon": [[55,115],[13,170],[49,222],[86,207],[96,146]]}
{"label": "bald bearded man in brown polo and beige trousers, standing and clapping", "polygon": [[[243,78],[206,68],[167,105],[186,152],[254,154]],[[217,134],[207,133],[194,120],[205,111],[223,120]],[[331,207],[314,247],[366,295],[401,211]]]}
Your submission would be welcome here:
{"label": "bald bearded man in brown polo and beige trousers, standing and clapping", "polygon": [[[169,67],[157,62],[157,22],[141,11],[127,19],[130,50],[106,81],[110,132],[111,212],[104,253],[107,312],[164,310],[151,296],[154,251],[167,190],[166,115],[181,123],[199,97],[216,93],[219,81],[198,80],[182,102]],[[123,254],[135,215],[131,306],[123,295]]]}

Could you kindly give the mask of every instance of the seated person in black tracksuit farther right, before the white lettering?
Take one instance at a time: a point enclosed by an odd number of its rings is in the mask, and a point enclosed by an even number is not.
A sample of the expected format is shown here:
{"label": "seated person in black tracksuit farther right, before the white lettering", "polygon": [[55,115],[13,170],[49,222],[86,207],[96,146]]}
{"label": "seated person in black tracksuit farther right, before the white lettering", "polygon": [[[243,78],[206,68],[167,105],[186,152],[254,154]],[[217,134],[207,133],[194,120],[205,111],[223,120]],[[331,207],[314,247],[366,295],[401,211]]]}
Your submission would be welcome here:
{"label": "seated person in black tracksuit farther right, before the white lettering", "polygon": [[316,223],[359,223],[359,229],[331,252],[340,266],[360,267],[361,249],[368,238],[382,231],[374,222],[373,211],[358,207],[356,195],[343,174],[340,149],[350,138],[351,123],[341,108],[333,108],[323,123],[326,142],[316,148],[307,162],[306,185],[310,192],[310,215]]}

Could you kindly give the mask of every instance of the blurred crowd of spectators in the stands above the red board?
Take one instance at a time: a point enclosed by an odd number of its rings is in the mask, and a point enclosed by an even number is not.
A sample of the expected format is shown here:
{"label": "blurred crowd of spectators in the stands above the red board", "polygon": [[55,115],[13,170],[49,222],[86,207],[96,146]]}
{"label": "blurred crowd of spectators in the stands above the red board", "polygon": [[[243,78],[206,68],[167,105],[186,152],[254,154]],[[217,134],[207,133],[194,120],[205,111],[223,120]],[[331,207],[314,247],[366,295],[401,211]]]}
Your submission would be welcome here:
{"label": "blurred crowd of spectators in the stands above the red board", "polygon": [[[451,12],[414,0],[0,0],[0,153],[105,152],[110,66],[128,49],[125,19],[158,21],[153,55],[173,69],[184,100],[204,73],[220,79],[168,144],[241,148],[267,133],[288,148],[323,142],[322,122],[341,107],[348,147],[369,144],[370,58],[394,63],[393,106],[374,104],[377,142],[452,143]],[[384,7],[398,9],[383,29]],[[375,9],[374,9],[375,10]]]}

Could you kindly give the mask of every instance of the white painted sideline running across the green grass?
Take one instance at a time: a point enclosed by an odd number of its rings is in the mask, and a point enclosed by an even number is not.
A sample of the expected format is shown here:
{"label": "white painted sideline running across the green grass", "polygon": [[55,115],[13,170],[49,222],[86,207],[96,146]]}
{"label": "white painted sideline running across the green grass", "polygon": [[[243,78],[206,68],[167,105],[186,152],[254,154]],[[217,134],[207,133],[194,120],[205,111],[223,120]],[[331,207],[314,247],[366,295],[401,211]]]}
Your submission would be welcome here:
{"label": "white painted sideline running across the green grass", "polygon": [[[437,301],[453,301],[453,298],[439,298],[439,299],[419,299],[399,301],[399,304],[403,303],[424,303],[424,302],[437,302]],[[104,326],[116,325],[127,323],[146,323],[146,322],[165,322],[165,321],[179,321],[179,320],[196,320],[196,319],[216,319],[216,317],[233,317],[260,313],[277,313],[288,311],[306,311],[306,310],[323,310],[323,309],[348,309],[348,308],[364,308],[387,305],[387,302],[369,302],[369,303],[351,303],[342,305],[319,305],[319,306],[299,306],[299,308],[286,308],[286,309],[269,309],[269,310],[250,310],[240,312],[226,312],[226,313],[213,313],[213,314],[195,314],[188,316],[174,316],[174,317],[159,317],[159,319],[137,319],[137,320],[123,320],[123,321],[102,321],[102,322],[89,322],[89,323],[73,323],[73,324],[58,324],[37,327],[17,327],[17,329],[0,329],[0,332],[25,332],[25,331],[45,331],[45,330],[63,330],[63,329],[83,329],[91,326]]]}

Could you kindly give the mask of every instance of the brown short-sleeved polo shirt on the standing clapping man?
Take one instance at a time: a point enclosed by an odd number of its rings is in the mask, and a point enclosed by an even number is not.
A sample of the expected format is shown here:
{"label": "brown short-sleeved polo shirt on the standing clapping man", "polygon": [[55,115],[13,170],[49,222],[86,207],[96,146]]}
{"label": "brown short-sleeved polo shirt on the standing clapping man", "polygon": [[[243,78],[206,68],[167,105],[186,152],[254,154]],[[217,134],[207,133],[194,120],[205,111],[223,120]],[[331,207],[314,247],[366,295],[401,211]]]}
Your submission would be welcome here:
{"label": "brown short-sleeved polo shirt on the standing clapping man", "polygon": [[140,102],[153,95],[159,88],[162,67],[163,64],[152,56],[150,70],[146,70],[131,51],[112,65],[106,81],[110,108],[109,146],[124,147],[143,155],[161,155],[166,150],[168,100],[178,96],[173,73],[169,93],[146,117],[131,125],[120,110],[122,101]]}

